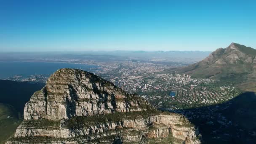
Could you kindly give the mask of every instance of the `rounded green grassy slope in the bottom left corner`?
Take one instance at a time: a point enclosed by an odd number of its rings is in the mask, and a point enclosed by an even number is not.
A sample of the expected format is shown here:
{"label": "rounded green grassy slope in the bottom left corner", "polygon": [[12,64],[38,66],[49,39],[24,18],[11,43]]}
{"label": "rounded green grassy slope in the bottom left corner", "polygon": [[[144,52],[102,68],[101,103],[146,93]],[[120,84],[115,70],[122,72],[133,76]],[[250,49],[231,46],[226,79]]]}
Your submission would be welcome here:
{"label": "rounded green grassy slope in the bottom left corner", "polygon": [[0,103],[0,144],[4,144],[15,133],[21,121],[11,105]]}

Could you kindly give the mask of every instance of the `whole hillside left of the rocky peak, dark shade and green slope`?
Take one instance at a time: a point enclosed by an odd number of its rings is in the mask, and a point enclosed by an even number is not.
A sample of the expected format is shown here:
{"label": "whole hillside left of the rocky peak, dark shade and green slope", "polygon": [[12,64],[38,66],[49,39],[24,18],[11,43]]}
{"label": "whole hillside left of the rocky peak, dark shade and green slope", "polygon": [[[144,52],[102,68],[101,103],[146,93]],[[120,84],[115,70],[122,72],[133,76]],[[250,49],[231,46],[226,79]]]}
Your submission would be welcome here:
{"label": "whole hillside left of the rocky peak, dark shade and green slope", "polygon": [[0,144],[3,144],[22,122],[24,106],[43,83],[0,80]]}

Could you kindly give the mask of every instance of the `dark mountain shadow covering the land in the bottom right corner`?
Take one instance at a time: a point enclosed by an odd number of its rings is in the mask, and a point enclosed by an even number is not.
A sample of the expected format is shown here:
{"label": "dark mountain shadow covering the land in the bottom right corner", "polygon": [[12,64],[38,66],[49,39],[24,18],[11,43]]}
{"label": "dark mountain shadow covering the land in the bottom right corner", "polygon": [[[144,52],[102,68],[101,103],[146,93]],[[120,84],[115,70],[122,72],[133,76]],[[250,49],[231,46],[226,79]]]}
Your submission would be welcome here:
{"label": "dark mountain shadow covering the land in the bottom right corner", "polygon": [[256,144],[256,95],[245,92],[222,104],[181,112],[203,136],[203,144]]}

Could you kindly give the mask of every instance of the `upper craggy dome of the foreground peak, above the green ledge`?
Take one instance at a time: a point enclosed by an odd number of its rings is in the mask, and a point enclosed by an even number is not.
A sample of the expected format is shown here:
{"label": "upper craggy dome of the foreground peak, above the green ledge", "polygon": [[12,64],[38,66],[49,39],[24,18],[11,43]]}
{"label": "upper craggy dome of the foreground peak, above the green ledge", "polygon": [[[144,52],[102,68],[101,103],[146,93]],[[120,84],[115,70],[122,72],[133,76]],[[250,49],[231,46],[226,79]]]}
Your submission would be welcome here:
{"label": "upper craggy dome of the foreground peak, above the green ledge", "polygon": [[140,111],[147,102],[143,99],[136,101],[135,97],[89,72],[59,69],[26,104],[24,119],[61,120],[75,116]]}

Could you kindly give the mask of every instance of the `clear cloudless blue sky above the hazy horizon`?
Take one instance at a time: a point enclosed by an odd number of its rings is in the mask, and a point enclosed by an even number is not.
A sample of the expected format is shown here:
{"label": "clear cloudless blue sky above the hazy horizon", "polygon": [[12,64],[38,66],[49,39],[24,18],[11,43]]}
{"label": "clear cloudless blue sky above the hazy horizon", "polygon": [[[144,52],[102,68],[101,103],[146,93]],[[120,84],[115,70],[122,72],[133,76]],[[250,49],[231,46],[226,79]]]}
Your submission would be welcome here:
{"label": "clear cloudless blue sky above the hazy horizon", "polygon": [[0,0],[0,51],[256,48],[255,0]]}

